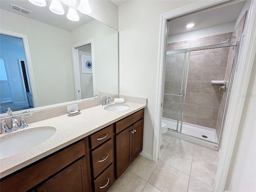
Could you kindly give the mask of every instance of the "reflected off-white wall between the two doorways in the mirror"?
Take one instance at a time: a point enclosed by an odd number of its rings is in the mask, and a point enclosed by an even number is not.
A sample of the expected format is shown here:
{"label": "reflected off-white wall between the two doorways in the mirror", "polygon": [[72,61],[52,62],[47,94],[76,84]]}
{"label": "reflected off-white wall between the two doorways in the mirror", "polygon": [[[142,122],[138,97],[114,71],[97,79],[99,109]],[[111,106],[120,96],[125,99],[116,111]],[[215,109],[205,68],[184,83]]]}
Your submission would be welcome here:
{"label": "reflected off-white wall between the two doorways in the mirror", "polygon": [[28,36],[39,106],[75,100],[70,32],[2,9],[0,16],[1,29]]}

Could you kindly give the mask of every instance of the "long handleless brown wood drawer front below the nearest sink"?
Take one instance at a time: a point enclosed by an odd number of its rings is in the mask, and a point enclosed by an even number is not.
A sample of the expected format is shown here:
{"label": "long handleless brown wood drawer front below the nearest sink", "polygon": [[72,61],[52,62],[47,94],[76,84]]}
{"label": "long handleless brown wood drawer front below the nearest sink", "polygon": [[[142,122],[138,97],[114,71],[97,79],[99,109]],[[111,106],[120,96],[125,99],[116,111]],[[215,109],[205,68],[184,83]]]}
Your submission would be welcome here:
{"label": "long handleless brown wood drawer front below the nearest sink", "polygon": [[1,192],[27,191],[85,155],[84,140],[1,182]]}

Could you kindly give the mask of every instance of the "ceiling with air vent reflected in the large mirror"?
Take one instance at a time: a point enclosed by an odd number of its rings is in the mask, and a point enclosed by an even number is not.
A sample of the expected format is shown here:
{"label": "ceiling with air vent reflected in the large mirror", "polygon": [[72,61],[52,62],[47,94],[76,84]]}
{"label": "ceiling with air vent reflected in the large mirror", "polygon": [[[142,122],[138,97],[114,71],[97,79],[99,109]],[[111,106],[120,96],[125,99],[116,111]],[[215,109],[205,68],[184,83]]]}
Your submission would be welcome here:
{"label": "ceiling with air vent reflected in the large mirror", "polygon": [[[46,7],[39,7],[35,6],[32,3],[30,3],[28,0],[0,0],[0,8],[13,12],[15,14],[19,14],[21,16],[31,18],[67,31],[72,31],[80,26],[83,26],[84,24],[91,22],[94,20],[94,18],[91,18],[90,16],[86,14],[82,14],[78,11],[78,15],[80,17],[80,20],[78,22],[70,21],[68,18],[64,15],[57,15],[52,13],[49,10],[50,6],[50,0],[46,0],[47,5]],[[80,0],[77,1],[77,4],[74,7],[78,7],[80,3]],[[25,14],[23,12],[19,12],[17,10],[14,10],[10,8],[10,4],[14,4],[16,6],[19,6],[21,8],[24,8],[26,10],[32,11],[30,14]],[[63,6],[65,13],[68,12],[68,6]],[[1,18],[2,19],[2,18]]]}

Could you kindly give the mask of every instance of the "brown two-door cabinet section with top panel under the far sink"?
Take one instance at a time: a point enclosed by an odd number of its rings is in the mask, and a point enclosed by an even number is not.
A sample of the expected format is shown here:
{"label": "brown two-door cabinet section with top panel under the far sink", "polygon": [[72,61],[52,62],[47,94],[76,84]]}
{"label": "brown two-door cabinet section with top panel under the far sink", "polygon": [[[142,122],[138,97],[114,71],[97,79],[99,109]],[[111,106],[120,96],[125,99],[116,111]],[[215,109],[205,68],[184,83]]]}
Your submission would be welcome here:
{"label": "brown two-door cabinet section with top panel under the far sink", "polygon": [[116,178],[142,152],[143,117],[144,109],[116,123]]}

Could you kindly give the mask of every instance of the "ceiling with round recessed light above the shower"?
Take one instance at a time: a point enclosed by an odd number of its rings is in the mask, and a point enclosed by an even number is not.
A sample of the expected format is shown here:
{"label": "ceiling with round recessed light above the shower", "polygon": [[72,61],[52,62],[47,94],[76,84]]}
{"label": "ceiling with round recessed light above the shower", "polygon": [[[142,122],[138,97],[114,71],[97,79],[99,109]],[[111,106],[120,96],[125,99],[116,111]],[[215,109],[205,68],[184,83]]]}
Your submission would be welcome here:
{"label": "ceiling with round recessed light above the shower", "polygon": [[[168,36],[235,22],[245,3],[246,1],[239,1],[229,6],[209,8],[170,20],[168,22]],[[196,25],[191,29],[187,29],[186,24],[191,22],[196,23]]]}

